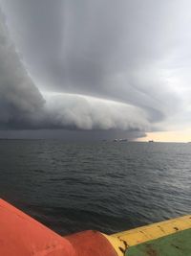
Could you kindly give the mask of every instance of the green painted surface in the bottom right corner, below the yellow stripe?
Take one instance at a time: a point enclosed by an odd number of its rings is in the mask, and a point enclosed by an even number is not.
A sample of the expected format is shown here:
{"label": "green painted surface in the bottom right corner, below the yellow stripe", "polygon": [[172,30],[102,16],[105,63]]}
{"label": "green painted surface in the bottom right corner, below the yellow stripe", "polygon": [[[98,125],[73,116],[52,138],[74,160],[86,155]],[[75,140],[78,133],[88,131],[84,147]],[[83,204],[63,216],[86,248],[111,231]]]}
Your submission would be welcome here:
{"label": "green painted surface in the bottom right corner, below the yellow stripe", "polygon": [[191,228],[129,247],[125,256],[191,256]]}

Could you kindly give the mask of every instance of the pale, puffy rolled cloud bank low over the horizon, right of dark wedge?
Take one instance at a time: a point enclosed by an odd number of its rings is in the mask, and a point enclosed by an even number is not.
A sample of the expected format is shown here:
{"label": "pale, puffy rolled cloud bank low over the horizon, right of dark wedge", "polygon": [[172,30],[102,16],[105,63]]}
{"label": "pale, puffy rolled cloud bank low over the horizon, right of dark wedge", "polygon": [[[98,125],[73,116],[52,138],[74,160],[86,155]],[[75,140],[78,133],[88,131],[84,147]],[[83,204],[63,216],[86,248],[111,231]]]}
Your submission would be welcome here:
{"label": "pale, puffy rolled cloud bank low over the horizon, right of dark wedge", "polygon": [[74,94],[45,94],[48,122],[55,128],[146,130],[146,114],[136,106]]}

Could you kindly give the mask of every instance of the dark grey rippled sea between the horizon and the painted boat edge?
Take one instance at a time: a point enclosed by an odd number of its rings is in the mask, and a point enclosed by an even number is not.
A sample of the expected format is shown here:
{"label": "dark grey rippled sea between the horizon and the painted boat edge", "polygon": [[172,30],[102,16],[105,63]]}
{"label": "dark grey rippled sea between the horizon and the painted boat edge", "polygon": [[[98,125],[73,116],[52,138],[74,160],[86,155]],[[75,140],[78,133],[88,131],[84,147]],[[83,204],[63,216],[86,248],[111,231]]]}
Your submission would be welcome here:
{"label": "dark grey rippled sea between the horizon and the painted boat edge", "polygon": [[0,140],[0,197],[60,234],[191,213],[191,144]]}

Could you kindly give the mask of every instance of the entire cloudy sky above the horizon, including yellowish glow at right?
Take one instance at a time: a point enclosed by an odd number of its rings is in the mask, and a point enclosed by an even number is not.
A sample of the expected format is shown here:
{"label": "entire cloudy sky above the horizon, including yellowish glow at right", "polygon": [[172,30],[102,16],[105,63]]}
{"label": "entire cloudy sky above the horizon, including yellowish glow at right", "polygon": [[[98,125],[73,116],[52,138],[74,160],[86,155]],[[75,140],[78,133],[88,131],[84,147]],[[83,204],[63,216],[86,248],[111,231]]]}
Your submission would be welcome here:
{"label": "entire cloudy sky above the horizon, including yellowish glow at right", "polygon": [[0,0],[0,137],[191,140],[190,8]]}

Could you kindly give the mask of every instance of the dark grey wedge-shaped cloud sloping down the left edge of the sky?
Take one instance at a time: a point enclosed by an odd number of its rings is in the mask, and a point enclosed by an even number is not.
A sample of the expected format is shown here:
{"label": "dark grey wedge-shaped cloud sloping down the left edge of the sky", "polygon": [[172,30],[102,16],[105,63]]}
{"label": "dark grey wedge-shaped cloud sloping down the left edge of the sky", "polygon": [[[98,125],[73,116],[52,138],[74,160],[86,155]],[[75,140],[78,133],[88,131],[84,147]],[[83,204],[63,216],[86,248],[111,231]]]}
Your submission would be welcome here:
{"label": "dark grey wedge-shaped cloud sloping down the left edge of the sky", "polygon": [[0,60],[0,124],[7,127],[41,108],[43,98],[15,52],[1,12]]}

